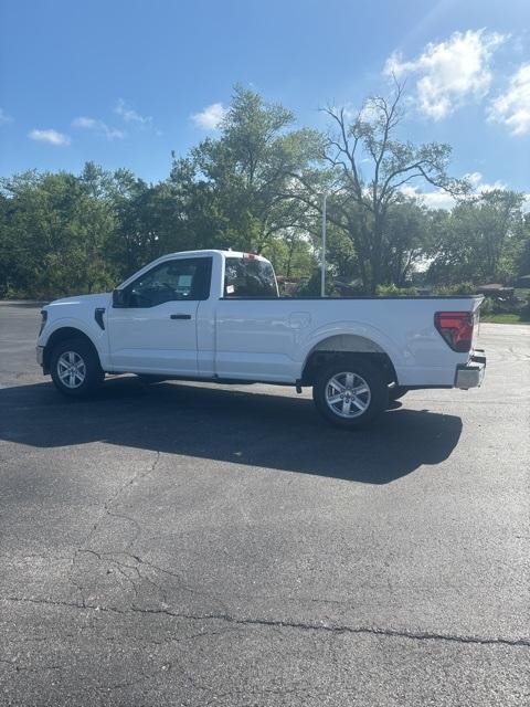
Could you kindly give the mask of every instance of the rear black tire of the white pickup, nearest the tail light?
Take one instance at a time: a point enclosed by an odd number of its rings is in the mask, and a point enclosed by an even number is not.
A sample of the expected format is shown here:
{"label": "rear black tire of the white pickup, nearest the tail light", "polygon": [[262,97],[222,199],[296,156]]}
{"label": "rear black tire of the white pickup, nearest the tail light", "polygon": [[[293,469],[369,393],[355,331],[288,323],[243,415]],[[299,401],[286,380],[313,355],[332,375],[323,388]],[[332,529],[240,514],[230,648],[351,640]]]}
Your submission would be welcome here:
{"label": "rear black tire of the white pickup, nearest the tail light", "polygon": [[[340,400],[333,407],[328,399],[342,394],[336,388],[337,383],[331,380],[337,377],[336,381],[348,382],[346,374],[353,374],[352,388],[344,388],[343,394],[350,395],[350,405],[353,410],[344,416],[344,404],[348,407],[348,399]],[[368,388],[369,392],[360,392],[358,395],[352,391]],[[336,391],[337,394],[332,394]],[[351,391],[351,392],[350,392]],[[329,393],[329,394],[328,394]],[[353,398],[357,402],[353,402]],[[333,425],[344,428],[347,430],[359,429],[372,422],[383,410],[386,409],[389,402],[389,390],[383,372],[367,359],[360,357],[344,357],[341,360],[328,363],[318,371],[315,383],[312,386],[312,399],[319,413]],[[361,405],[365,405],[364,410],[360,410]],[[337,410],[340,408],[340,412]]]}

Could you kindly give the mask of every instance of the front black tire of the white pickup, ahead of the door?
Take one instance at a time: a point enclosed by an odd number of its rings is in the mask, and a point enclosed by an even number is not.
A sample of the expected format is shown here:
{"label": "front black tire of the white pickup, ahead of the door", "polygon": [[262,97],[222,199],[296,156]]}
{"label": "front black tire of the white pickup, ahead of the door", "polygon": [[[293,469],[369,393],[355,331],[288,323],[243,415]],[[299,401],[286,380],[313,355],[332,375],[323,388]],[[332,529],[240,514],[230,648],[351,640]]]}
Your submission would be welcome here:
{"label": "front black tire of the white pickup, ahead of the door", "polygon": [[[65,366],[68,363],[76,368],[76,372],[65,373],[67,370]],[[60,341],[53,348],[50,357],[50,372],[56,389],[68,398],[92,395],[105,378],[96,351],[81,337]],[[73,381],[73,384],[65,380]]]}

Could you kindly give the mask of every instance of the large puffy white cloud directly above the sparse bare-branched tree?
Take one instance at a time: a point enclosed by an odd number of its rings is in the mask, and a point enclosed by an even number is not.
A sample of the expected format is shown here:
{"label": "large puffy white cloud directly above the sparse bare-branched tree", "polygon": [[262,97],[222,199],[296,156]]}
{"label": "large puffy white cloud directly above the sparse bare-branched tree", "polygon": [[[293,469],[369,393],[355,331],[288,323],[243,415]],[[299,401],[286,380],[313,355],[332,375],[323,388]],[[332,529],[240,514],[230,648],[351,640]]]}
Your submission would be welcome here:
{"label": "large puffy white cloud directly above the sparse bare-branched tree", "polygon": [[384,73],[394,74],[396,78],[417,76],[417,108],[439,120],[467,101],[483,98],[488,93],[491,56],[506,39],[507,35],[485,30],[454,32],[445,42],[430,42],[413,61],[402,61],[400,54],[392,54]]}

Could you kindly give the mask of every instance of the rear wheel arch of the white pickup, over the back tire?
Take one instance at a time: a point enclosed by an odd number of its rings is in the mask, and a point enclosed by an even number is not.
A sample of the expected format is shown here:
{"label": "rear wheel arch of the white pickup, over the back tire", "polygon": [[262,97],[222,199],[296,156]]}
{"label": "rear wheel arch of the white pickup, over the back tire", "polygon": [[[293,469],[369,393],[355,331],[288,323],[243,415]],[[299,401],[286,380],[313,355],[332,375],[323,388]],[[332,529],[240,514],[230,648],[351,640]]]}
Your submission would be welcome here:
{"label": "rear wheel arch of the white pickup, over the back tire", "polygon": [[373,339],[357,334],[335,334],[318,341],[306,356],[301,384],[312,386],[316,373],[322,366],[352,356],[369,359],[382,368],[389,383],[398,381],[391,357]]}

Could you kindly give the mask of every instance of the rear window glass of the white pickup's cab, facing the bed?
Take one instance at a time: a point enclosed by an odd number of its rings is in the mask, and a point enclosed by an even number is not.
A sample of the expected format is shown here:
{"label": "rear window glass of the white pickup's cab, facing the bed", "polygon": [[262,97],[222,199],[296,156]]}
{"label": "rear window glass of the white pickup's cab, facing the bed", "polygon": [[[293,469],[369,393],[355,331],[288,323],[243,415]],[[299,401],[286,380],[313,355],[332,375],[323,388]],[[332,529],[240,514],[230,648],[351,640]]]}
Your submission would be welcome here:
{"label": "rear window glass of the white pickup's cab, facing the bed", "polygon": [[225,297],[277,297],[271,263],[247,257],[227,257],[224,266]]}

